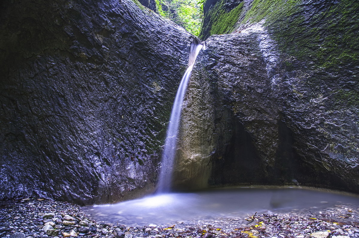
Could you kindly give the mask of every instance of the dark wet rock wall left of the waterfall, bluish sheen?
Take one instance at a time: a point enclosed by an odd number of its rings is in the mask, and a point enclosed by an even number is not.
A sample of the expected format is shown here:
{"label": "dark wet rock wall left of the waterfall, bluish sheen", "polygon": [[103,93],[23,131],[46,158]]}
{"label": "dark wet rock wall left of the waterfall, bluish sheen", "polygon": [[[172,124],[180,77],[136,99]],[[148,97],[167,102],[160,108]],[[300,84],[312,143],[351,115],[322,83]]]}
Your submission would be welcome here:
{"label": "dark wet rock wall left of the waterfall, bluish sheen", "polygon": [[0,198],[153,189],[192,36],[127,0],[2,5]]}

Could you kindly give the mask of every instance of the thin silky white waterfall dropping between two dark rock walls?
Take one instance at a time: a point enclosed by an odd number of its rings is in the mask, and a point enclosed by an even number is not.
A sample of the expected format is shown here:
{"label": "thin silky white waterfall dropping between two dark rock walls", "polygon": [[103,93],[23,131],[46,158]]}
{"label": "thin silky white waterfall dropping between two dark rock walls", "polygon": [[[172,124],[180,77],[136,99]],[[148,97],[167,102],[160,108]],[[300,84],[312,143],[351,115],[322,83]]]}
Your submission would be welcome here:
{"label": "thin silky white waterfall dropping between two dark rock walls", "polygon": [[182,77],[180,86],[178,87],[176,98],[171,111],[171,118],[167,128],[166,141],[162,153],[162,166],[160,168],[159,181],[157,185],[157,193],[168,192],[172,184],[172,172],[174,157],[176,156],[178,127],[181,119],[183,97],[187,89],[188,81],[191,77],[192,68],[195,64],[198,53],[202,48],[202,44],[194,41],[191,43],[190,55],[188,58],[188,68]]}

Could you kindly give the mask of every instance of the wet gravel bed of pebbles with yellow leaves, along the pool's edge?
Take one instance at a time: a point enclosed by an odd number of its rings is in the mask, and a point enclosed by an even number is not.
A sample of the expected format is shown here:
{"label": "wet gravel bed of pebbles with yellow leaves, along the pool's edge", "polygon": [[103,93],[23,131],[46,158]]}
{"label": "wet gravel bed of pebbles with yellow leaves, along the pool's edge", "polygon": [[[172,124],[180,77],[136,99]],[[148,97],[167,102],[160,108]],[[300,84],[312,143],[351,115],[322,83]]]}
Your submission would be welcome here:
{"label": "wet gravel bed of pebbles with yellow leaves, along the pool's edge", "polygon": [[0,237],[348,238],[359,237],[359,208],[338,204],[322,211],[313,208],[163,227],[126,227],[94,221],[78,205],[25,198],[0,203]]}

